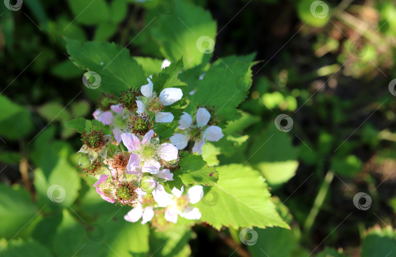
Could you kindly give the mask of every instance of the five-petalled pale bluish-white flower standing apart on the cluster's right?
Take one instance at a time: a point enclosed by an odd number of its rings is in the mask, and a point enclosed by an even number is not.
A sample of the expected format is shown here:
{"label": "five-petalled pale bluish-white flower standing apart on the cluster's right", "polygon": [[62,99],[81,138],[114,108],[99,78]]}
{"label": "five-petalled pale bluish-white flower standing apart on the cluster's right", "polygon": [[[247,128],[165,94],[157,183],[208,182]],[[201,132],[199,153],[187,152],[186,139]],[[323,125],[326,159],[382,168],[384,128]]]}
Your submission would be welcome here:
{"label": "five-petalled pale bluish-white flower standing apart on the cluster's right", "polygon": [[188,140],[195,141],[193,153],[202,154],[202,146],[205,138],[208,141],[219,141],[224,136],[219,126],[208,126],[204,131],[203,128],[208,124],[210,113],[205,108],[199,108],[197,111],[197,124],[193,124],[193,118],[188,113],[183,113],[179,120],[179,129],[186,130],[184,134],[175,134],[172,136],[171,142],[177,149],[184,149]]}

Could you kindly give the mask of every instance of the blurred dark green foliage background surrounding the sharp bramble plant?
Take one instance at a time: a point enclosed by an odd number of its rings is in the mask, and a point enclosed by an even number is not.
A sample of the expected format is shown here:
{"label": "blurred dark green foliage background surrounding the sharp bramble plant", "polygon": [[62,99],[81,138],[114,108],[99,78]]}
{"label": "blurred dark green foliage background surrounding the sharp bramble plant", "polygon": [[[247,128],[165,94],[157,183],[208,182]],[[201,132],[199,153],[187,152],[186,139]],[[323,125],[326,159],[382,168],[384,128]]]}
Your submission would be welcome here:
{"label": "blurred dark green foliage background surrounding the sharp bramble plant", "polygon": [[[396,1],[21,2],[0,4],[0,256],[396,256]],[[212,61],[259,61],[242,118],[203,153],[211,165],[248,160],[292,228],[256,228],[249,247],[232,229],[124,221],[129,208],[102,201],[78,174],[81,141],[64,126],[91,119],[101,97],[84,87],[64,37],[127,46],[150,58],[136,58],[149,75],[164,58],[200,63],[191,28],[215,36]],[[169,50],[182,42],[192,44]],[[275,128],[280,114],[289,132]],[[60,203],[47,197],[53,184],[67,188]],[[358,192],[368,210],[353,204]]]}

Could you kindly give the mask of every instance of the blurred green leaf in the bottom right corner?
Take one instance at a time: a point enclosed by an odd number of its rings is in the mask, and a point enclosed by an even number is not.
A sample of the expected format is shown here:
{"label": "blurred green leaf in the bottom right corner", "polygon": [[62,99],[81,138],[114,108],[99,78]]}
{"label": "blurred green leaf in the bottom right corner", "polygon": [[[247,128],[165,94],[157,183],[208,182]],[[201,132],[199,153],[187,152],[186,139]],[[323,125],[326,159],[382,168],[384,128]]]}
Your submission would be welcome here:
{"label": "blurred green leaf in the bottom right corner", "polygon": [[396,257],[395,230],[391,226],[381,229],[374,226],[367,232],[362,244],[361,257],[387,256]]}

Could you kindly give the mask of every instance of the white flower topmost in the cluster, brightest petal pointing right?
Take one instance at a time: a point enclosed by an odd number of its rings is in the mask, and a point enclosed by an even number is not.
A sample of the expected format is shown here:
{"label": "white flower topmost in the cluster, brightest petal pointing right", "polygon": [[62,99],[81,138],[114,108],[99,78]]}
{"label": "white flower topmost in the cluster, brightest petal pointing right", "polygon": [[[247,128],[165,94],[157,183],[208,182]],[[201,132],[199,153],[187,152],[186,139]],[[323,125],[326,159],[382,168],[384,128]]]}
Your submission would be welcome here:
{"label": "white flower topmost in the cluster, brightest petal pointing right", "polygon": [[153,82],[150,79],[147,80],[149,83],[140,88],[140,92],[144,97],[139,97],[139,100],[136,100],[136,112],[141,114],[150,111],[155,114],[155,122],[172,122],[174,119],[173,114],[162,112],[162,110],[164,106],[171,105],[180,100],[183,97],[183,92],[180,88],[169,87],[162,90],[159,93],[159,97],[157,97],[155,92],[153,92]]}

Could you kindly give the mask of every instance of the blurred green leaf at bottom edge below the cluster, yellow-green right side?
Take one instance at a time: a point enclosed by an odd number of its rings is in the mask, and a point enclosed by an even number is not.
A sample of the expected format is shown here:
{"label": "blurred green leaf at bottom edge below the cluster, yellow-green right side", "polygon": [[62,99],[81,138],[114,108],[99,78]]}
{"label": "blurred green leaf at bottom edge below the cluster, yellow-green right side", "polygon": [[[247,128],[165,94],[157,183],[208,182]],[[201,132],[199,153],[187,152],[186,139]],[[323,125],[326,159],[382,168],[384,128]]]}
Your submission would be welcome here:
{"label": "blurred green leaf at bottom edge below the cluster, yellow-green right side", "polygon": [[135,256],[149,251],[148,225],[140,222],[125,221],[123,216],[128,210],[123,209],[112,218],[80,224],[69,212],[63,211],[63,220],[53,243],[57,257],[78,256],[100,257]]}

